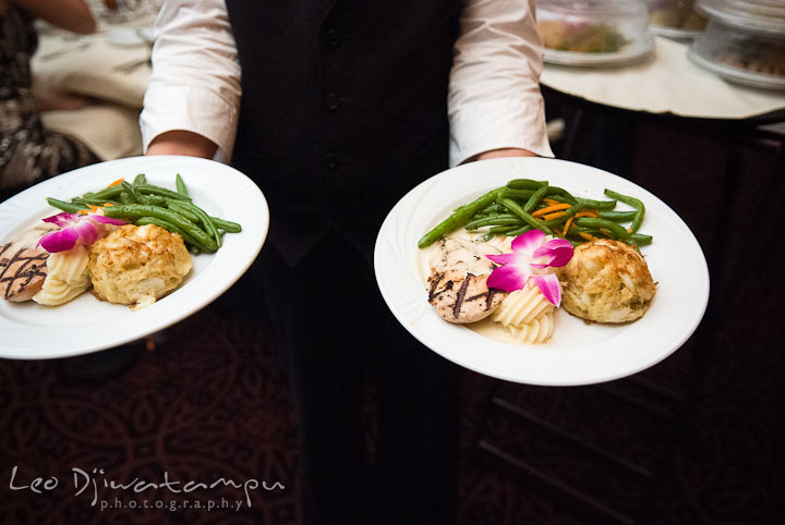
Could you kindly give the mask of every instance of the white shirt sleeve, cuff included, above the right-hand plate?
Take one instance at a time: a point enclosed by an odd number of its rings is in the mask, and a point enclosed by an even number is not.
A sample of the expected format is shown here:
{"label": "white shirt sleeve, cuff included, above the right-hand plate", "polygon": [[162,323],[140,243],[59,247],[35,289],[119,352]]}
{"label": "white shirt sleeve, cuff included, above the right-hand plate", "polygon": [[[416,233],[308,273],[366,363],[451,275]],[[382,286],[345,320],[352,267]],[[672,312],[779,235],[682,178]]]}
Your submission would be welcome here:
{"label": "white shirt sleeve, cuff included, above the right-hand plate", "polygon": [[467,0],[448,109],[450,164],[498,148],[553,157],[540,93],[542,44],[533,0]]}

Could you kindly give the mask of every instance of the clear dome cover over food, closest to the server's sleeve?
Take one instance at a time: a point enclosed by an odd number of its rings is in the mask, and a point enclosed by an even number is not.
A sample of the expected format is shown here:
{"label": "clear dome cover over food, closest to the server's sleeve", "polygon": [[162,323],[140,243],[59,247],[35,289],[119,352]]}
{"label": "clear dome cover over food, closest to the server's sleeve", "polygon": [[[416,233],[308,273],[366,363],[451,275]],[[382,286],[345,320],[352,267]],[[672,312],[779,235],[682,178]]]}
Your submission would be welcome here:
{"label": "clear dome cover over food, closest to the server's sleeve", "polygon": [[643,0],[540,0],[536,16],[546,62],[629,62],[653,50]]}

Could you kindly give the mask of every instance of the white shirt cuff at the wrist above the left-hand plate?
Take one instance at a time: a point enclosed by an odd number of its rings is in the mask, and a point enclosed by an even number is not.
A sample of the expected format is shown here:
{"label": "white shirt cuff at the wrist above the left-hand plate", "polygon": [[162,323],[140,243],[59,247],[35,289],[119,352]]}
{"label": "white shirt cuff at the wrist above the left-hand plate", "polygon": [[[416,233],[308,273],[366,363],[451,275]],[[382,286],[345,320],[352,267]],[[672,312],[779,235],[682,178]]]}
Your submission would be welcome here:
{"label": "white shirt cuff at the wrist above the left-hand plate", "polygon": [[[217,144],[216,159],[228,161],[234,147],[237,121],[234,105],[212,91],[171,85],[160,90],[148,88],[140,115],[143,148],[147,152],[149,143],[161,133],[190,131]],[[209,126],[205,126],[206,122]]]}

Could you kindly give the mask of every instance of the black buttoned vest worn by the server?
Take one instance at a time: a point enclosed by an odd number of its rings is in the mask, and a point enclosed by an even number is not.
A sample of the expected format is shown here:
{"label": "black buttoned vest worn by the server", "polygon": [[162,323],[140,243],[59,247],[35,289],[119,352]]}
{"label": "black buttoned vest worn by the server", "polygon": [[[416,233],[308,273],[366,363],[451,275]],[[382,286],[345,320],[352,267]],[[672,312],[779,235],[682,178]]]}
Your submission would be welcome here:
{"label": "black buttoned vest worn by the server", "polygon": [[395,203],[447,168],[460,0],[227,0],[242,68],[233,163],[297,259],[328,224],[369,251]]}

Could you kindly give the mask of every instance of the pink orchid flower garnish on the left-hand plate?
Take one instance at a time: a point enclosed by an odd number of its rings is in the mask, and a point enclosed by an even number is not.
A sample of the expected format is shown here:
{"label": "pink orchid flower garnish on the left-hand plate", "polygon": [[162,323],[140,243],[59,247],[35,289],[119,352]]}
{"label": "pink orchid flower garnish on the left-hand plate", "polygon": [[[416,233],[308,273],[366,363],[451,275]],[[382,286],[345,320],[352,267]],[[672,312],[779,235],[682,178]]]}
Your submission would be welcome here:
{"label": "pink orchid flower garnish on the left-hand plate", "polygon": [[109,224],[125,224],[125,221],[98,213],[80,215],[65,211],[43,220],[60,228],[47,233],[38,241],[38,245],[44,246],[44,249],[50,254],[65,252],[77,245],[93,244],[111,231],[108,228]]}

